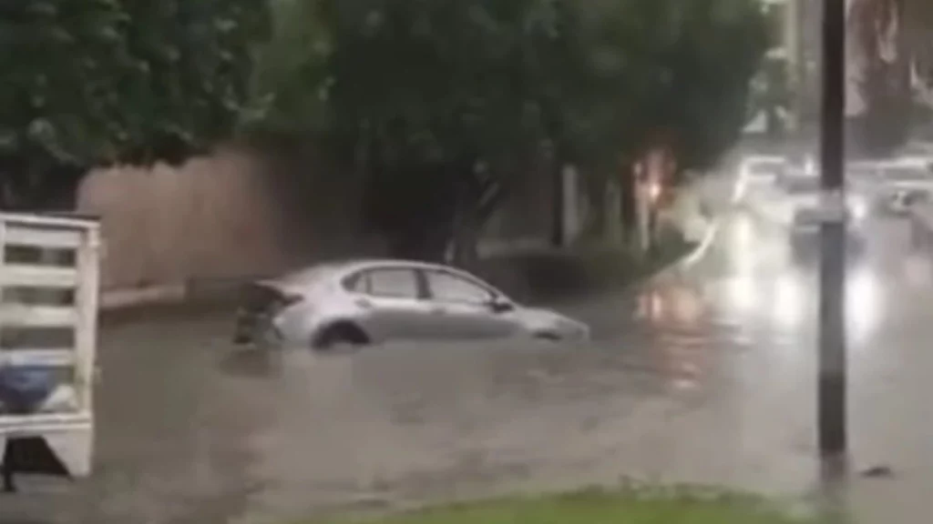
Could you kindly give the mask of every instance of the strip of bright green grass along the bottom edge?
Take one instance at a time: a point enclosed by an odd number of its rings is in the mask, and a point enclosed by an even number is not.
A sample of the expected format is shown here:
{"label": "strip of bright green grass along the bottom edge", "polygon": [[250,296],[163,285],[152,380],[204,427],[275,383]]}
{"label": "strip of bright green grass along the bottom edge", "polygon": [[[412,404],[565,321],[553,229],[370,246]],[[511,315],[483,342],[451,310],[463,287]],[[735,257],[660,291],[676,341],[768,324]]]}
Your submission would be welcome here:
{"label": "strip of bright green grass along the bottom edge", "polygon": [[816,524],[742,496],[602,491],[463,503],[417,512],[300,524]]}

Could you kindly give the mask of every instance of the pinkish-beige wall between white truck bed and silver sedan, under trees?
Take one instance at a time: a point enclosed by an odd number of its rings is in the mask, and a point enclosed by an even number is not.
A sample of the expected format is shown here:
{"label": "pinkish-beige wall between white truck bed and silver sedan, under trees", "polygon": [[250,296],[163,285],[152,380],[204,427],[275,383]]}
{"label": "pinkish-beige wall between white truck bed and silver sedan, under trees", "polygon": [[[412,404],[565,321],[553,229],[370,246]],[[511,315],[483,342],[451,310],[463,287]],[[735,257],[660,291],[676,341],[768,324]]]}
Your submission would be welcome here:
{"label": "pinkish-beige wall between white truck bed and silver sedan, under trees", "polygon": [[78,210],[98,214],[104,290],[223,279],[285,267],[279,210],[261,166],[224,151],[178,169],[92,172]]}

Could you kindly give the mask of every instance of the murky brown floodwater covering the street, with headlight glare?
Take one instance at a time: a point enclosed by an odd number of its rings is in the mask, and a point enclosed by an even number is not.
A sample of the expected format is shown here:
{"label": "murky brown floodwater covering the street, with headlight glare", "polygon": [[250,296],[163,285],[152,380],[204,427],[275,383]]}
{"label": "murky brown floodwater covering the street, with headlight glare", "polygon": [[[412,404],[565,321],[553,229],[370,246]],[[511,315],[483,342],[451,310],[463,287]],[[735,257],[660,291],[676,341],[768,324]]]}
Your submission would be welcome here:
{"label": "murky brown floodwater covering the street, with headlight glare", "polygon": [[[230,345],[230,317],[104,327],[96,470],[29,478],[2,524],[278,524],[626,479],[806,500],[815,461],[815,257],[753,212],[708,252],[564,303],[577,346],[425,344],[356,354]],[[852,480],[865,522],[916,522],[933,493],[933,250],[865,225],[849,264]],[[857,475],[885,465],[890,479]],[[892,509],[894,508],[894,509]]]}

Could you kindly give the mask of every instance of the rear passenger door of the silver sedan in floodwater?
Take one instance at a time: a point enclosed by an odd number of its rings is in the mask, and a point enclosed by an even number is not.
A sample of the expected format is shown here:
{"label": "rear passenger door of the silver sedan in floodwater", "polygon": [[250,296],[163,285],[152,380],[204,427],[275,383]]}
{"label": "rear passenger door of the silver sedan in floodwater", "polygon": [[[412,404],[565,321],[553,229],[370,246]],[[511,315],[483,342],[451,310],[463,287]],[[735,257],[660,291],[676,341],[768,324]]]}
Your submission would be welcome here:
{"label": "rear passenger door of the silver sedan in floodwater", "polygon": [[429,305],[415,269],[367,269],[356,278],[355,305],[374,338],[385,342],[430,338]]}

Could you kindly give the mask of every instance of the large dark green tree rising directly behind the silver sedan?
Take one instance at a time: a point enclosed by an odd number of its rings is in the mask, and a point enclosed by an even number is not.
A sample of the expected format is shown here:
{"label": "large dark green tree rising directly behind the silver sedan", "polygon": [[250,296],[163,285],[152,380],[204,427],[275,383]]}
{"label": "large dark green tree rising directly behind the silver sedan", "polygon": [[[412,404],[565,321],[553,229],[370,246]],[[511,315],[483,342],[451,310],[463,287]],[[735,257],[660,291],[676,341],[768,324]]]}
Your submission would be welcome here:
{"label": "large dark green tree rising directly behind the silver sedan", "polygon": [[598,180],[663,137],[685,168],[708,165],[744,123],[766,34],[752,0],[282,7],[270,49],[299,58],[265,55],[264,124],[327,141],[396,255],[425,258],[452,239],[469,252],[549,155],[551,174],[576,164]]}

